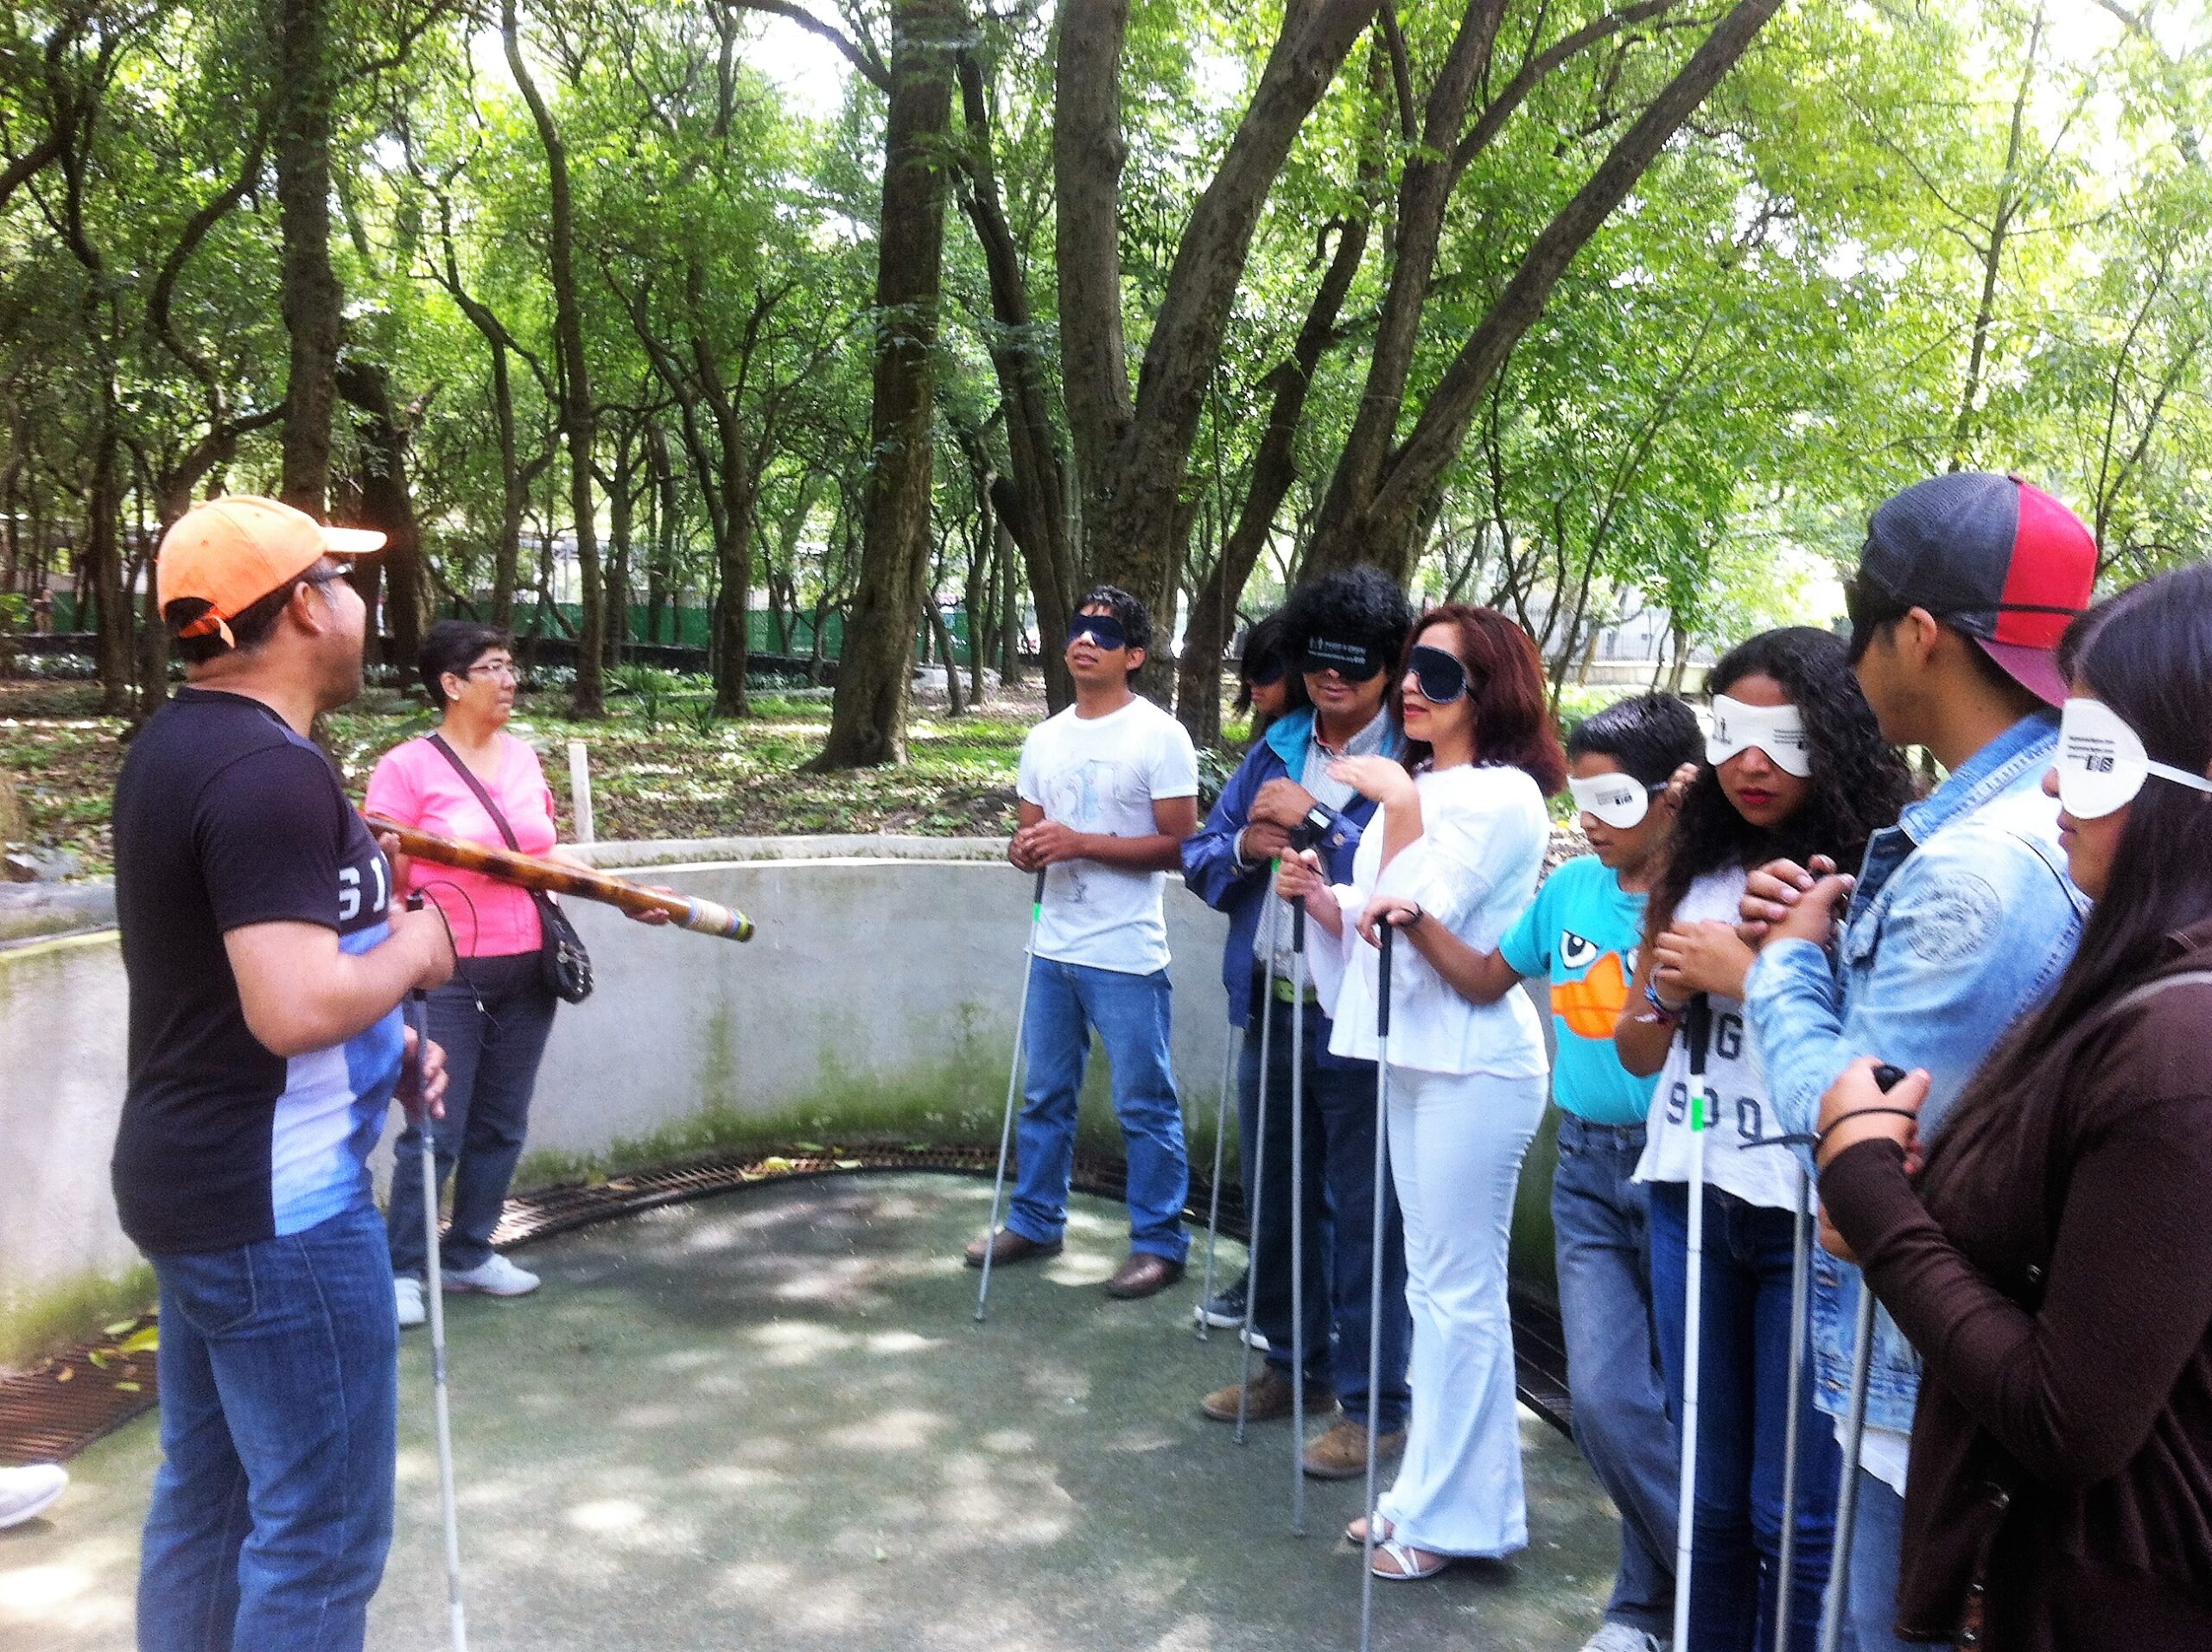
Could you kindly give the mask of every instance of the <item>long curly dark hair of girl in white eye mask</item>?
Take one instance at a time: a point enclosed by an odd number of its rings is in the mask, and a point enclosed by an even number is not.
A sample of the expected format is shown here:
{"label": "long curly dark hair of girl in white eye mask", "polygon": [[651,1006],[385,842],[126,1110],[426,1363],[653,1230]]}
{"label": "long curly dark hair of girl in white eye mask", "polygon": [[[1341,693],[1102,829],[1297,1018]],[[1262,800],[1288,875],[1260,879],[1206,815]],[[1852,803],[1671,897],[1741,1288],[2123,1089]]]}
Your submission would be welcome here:
{"label": "long curly dark hair of girl in white eye mask", "polygon": [[1893,825],[1913,801],[1913,774],[1882,739],[1874,708],[1858,692],[1849,648],[1812,626],[1763,630],[1725,655],[1705,677],[1708,694],[1725,694],[1745,677],[1772,677],[1805,719],[1812,785],[1805,803],[1772,832],[1754,827],[1721,792],[1721,772],[1705,763],[1683,792],[1668,845],[1666,874],[1650,900],[1650,935],[1674,922],[1690,885],[1723,867],[1756,867],[1816,854],[1856,869],[1867,838]]}

